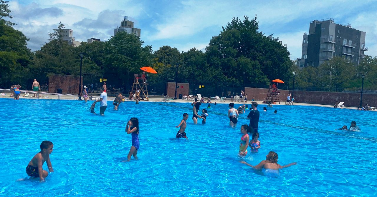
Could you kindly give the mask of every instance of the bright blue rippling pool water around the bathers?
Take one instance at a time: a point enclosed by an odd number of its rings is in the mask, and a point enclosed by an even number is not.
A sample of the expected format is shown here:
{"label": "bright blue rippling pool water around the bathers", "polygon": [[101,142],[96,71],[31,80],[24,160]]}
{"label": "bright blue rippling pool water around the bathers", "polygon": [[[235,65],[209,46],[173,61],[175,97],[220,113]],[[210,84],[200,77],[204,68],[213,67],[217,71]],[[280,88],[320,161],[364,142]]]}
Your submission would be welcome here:
{"label": "bright blue rippling pool water around the bathers", "polygon": [[[207,124],[193,125],[187,103],[125,102],[119,111],[109,105],[101,117],[90,114],[92,102],[0,102],[1,196],[377,195],[377,113],[372,111],[275,105],[273,114],[260,105],[261,149],[245,161],[256,165],[275,151],[278,163],[298,163],[267,177],[239,163],[240,127],[248,124],[247,114],[230,128],[227,104],[212,104]],[[190,116],[189,139],[175,139],[184,112]],[[124,129],[132,117],[139,118],[139,159],[121,162],[131,147]],[[362,132],[335,130],[352,120]],[[55,172],[40,183],[25,168],[43,140],[54,143]]]}

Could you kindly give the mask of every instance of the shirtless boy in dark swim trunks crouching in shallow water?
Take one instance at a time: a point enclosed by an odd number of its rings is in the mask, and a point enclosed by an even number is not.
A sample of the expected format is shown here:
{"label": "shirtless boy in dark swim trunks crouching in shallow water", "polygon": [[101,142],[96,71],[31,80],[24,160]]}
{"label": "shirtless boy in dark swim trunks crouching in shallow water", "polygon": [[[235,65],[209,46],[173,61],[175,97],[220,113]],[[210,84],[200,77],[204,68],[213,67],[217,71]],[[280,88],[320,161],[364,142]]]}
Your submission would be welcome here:
{"label": "shirtless boy in dark swim trunks crouching in shallow water", "polygon": [[52,169],[50,154],[54,145],[50,141],[43,141],[40,145],[41,151],[37,153],[26,167],[26,173],[31,177],[39,177],[40,181],[48,176],[48,172],[43,170],[43,163],[46,162],[50,173],[54,172]]}

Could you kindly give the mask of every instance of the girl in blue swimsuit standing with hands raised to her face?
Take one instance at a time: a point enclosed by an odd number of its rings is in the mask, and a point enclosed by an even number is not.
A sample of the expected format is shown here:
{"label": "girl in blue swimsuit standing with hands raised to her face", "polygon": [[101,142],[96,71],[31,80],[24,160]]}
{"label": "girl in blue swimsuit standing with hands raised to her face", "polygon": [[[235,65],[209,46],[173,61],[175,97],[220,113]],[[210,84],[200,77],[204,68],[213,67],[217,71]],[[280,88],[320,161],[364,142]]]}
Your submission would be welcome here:
{"label": "girl in blue swimsuit standing with hands raised to her face", "polygon": [[136,154],[139,150],[139,120],[137,118],[131,118],[130,121],[128,121],[126,125],[126,132],[127,134],[131,134],[132,139],[132,147],[127,155],[127,161],[131,159],[132,155],[135,157],[135,159],[138,159]]}

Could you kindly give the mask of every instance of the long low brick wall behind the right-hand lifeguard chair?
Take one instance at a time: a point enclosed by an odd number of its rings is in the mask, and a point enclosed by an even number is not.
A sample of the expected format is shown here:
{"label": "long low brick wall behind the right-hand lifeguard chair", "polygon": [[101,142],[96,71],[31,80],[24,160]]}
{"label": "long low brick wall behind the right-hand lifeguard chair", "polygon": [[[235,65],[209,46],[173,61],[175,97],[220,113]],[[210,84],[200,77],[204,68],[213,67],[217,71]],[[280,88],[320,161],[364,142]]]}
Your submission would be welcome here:
{"label": "long low brick wall behind the right-hand lifeguard chair", "polygon": [[[254,99],[257,101],[265,101],[268,89],[245,87],[245,94],[248,100]],[[292,93],[292,90],[279,90],[280,102],[285,102],[287,94]],[[346,92],[317,92],[317,91],[294,91],[294,100],[296,102],[334,105],[335,103],[344,102],[347,107],[359,107],[360,93],[346,93]],[[368,104],[371,107],[377,106],[376,94],[363,94],[363,105]]]}

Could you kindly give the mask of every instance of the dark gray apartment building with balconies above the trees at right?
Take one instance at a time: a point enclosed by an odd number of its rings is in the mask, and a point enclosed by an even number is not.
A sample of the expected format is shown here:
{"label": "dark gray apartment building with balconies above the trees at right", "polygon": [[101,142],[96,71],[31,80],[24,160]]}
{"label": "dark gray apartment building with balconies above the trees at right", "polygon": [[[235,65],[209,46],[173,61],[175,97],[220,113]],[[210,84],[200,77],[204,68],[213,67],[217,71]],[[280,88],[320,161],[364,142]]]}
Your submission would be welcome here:
{"label": "dark gray apartment building with balconies above the trees at right", "polygon": [[319,66],[336,56],[358,65],[365,51],[365,32],[351,24],[336,24],[333,18],[314,20],[310,22],[309,34],[302,37],[302,56],[297,59],[297,67]]}

